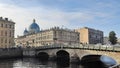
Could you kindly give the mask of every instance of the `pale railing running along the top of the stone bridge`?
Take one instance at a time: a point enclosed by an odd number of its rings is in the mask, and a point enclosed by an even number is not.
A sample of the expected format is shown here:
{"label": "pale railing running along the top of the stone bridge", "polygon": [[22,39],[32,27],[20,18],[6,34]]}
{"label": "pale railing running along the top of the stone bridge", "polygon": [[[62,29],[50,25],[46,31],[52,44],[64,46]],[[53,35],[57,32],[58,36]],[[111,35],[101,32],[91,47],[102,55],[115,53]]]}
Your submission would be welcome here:
{"label": "pale railing running along the top of the stone bridge", "polygon": [[120,47],[105,46],[105,45],[44,45],[35,47],[35,49],[54,49],[54,48],[72,48],[72,49],[86,49],[86,50],[102,50],[102,51],[119,51]]}

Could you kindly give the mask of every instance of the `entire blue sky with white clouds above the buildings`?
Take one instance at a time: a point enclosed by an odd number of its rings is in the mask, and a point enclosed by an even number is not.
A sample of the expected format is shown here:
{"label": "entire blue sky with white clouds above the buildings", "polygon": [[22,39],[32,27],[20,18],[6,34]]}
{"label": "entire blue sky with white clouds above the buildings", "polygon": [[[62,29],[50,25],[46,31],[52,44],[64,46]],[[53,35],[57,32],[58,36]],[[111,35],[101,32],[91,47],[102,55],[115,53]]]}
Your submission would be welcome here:
{"label": "entire blue sky with white clouds above the buildings", "polygon": [[15,22],[15,37],[36,20],[41,30],[89,27],[120,37],[120,0],[0,0],[0,16]]}

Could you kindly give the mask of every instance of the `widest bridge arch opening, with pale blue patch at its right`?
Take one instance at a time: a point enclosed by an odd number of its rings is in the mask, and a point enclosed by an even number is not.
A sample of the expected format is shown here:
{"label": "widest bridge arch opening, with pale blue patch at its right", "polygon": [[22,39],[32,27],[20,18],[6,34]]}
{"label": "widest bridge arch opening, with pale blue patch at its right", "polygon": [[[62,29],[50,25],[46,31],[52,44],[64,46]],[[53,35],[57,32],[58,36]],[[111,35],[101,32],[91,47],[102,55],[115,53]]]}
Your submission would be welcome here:
{"label": "widest bridge arch opening, with pale blue patch at its right", "polygon": [[95,54],[91,54],[91,55],[85,55],[81,58],[81,64],[83,66],[89,66],[91,68],[95,67],[95,68],[103,68],[103,67],[111,67],[117,64],[117,62],[109,57],[109,56],[105,56],[105,55],[95,55]]}

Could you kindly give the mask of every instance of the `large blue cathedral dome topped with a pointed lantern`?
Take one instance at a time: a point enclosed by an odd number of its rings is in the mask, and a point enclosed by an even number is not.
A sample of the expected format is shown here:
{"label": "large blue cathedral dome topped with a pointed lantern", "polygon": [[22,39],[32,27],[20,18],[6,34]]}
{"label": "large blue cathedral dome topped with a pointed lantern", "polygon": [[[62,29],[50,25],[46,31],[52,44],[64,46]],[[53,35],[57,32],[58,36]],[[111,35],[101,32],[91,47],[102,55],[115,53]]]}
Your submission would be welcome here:
{"label": "large blue cathedral dome topped with a pointed lantern", "polygon": [[33,23],[29,26],[29,33],[37,33],[40,31],[39,25],[33,20]]}

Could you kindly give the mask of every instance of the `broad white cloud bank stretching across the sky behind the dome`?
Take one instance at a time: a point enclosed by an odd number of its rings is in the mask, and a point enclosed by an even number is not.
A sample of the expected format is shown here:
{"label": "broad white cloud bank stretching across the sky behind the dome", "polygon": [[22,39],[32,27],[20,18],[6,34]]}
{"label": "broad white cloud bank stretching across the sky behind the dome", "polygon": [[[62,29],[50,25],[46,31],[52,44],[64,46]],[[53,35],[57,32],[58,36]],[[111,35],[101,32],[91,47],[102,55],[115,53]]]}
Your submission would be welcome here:
{"label": "broad white cloud bank stretching across the sky behind the dome", "polygon": [[96,17],[107,18],[109,15],[100,12],[65,12],[47,7],[19,7],[10,4],[0,4],[0,15],[16,22],[15,36],[22,35],[35,18],[41,29],[53,26],[69,25],[70,23],[86,23],[94,21]]}

